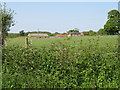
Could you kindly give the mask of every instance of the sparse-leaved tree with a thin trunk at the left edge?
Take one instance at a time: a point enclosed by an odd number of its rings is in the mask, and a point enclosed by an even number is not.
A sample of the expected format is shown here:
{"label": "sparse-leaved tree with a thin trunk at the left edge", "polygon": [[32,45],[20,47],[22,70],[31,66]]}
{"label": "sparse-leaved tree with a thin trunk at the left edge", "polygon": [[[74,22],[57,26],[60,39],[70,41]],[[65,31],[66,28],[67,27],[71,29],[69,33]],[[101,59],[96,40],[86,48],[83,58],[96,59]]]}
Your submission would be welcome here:
{"label": "sparse-leaved tree with a thin trunk at the left edge", "polygon": [[1,39],[2,39],[2,45],[5,45],[6,36],[8,35],[8,31],[10,31],[10,27],[14,26],[14,11],[11,9],[6,8],[6,4],[0,3],[0,17],[1,17]]}

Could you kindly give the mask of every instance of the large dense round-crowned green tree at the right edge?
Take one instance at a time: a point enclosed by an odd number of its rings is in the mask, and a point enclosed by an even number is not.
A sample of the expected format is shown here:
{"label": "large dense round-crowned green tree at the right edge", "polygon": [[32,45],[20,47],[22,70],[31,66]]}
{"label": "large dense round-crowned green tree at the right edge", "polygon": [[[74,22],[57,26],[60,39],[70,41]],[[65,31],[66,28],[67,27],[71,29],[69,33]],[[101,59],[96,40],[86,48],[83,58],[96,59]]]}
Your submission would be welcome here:
{"label": "large dense round-crowned green tree at the right edge", "polygon": [[108,12],[108,21],[104,25],[104,29],[109,35],[118,34],[120,30],[120,12],[118,10]]}

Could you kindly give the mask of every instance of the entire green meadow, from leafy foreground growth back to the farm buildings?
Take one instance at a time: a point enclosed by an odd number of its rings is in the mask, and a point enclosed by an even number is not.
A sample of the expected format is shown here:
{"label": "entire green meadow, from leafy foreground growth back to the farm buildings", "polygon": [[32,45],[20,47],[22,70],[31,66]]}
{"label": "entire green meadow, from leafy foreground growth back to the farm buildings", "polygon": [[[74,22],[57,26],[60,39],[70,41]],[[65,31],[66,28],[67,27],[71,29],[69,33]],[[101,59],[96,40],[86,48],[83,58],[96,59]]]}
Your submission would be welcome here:
{"label": "entire green meadow, from leafy foreground growth back to the farm buildings", "polygon": [[3,88],[119,88],[118,36],[8,38]]}

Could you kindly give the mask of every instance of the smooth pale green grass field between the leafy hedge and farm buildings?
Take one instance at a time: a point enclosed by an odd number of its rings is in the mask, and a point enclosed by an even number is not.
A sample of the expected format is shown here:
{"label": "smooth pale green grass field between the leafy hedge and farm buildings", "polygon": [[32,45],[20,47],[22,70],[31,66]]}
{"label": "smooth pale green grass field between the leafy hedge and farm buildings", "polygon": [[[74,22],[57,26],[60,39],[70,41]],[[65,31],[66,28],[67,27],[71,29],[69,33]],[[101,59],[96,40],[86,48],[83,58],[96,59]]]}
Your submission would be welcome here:
{"label": "smooth pale green grass field between the leafy hedge and farm buildings", "polygon": [[[29,38],[29,43],[32,47],[49,47],[50,44],[61,42],[68,45],[75,45],[76,47],[88,46],[90,44],[97,44],[98,47],[106,47],[118,45],[118,36],[84,36],[84,37],[65,37],[65,38]],[[8,46],[19,45],[25,46],[25,37],[19,37],[14,39],[8,39]]]}

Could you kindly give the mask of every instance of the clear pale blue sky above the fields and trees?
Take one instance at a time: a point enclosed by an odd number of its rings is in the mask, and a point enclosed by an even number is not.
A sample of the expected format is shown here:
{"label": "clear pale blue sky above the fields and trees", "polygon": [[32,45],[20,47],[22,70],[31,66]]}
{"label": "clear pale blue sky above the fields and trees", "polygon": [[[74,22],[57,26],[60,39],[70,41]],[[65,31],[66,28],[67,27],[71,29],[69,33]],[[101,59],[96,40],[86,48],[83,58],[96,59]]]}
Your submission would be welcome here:
{"label": "clear pale blue sky above the fields and trees", "polygon": [[15,11],[13,33],[20,30],[67,32],[103,28],[107,13],[118,9],[117,2],[7,2],[7,8]]}

